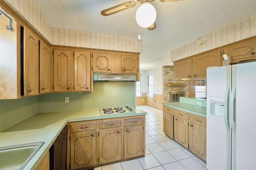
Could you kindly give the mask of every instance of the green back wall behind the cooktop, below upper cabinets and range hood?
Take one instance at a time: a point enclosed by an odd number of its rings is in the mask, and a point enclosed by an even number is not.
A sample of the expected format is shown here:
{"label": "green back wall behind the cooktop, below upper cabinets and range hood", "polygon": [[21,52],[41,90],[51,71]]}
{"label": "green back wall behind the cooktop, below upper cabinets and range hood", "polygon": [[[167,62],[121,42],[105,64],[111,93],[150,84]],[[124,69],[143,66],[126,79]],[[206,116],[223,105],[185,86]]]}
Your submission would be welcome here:
{"label": "green back wall behind the cooktop, below upper cabinets and range hood", "polygon": [[[69,97],[69,103],[65,103]],[[38,113],[136,106],[135,82],[94,82],[94,92],[49,93],[38,96]]]}

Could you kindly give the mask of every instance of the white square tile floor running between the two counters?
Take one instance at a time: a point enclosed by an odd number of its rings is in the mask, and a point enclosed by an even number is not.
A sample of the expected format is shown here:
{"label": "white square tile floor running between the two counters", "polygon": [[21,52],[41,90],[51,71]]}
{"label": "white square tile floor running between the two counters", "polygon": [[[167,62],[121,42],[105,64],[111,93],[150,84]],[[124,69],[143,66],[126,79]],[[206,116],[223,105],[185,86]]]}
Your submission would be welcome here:
{"label": "white square tile floor running between the two counters", "polygon": [[163,112],[149,106],[146,111],[146,154],[143,158],[114,163],[94,170],[206,170],[206,163],[163,132]]}

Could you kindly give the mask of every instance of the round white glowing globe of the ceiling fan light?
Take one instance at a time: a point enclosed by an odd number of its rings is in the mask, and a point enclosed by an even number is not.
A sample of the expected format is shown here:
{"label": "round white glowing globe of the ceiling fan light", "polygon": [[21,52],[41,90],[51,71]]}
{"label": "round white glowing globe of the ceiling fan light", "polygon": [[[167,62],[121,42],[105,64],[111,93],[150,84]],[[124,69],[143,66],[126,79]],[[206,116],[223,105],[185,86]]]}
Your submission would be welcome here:
{"label": "round white glowing globe of the ceiling fan light", "polygon": [[150,27],[156,20],[156,9],[150,2],[144,2],[136,12],[136,21],[141,27]]}

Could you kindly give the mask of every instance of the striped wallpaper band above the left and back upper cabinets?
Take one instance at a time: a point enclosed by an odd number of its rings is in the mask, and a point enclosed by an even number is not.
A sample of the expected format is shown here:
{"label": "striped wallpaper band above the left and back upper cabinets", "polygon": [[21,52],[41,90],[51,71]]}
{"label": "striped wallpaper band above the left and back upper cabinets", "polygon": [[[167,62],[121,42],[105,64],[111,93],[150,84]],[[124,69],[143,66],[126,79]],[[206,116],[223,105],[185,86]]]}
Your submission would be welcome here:
{"label": "striped wallpaper band above the left and back upper cabinets", "polygon": [[54,28],[33,0],[4,0],[53,45],[142,52],[138,38]]}

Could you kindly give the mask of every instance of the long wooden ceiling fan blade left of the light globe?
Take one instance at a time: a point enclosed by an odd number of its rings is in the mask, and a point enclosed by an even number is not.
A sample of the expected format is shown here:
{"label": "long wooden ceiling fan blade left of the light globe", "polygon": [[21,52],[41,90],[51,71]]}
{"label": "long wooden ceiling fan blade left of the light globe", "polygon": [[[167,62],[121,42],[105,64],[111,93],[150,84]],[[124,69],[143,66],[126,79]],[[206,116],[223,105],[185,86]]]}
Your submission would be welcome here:
{"label": "long wooden ceiling fan blade left of the light globe", "polygon": [[135,2],[133,0],[131,1],[128,1],[128,2],[125,2],[123,4],[120,4],[120,5],[117,5],[117,6],[114,6],[114,7],[111,7],[111,8],[108,8],[106,10],[103,10],[101,11],[101,15],[103,16],[109,16],[111,14],[115,14],[117,12],[120,12],[120,11],[123,11],[123,10],[126,10],[128,8],[132,8],[134,7],[136,4],[138,4],[139,2]]}

